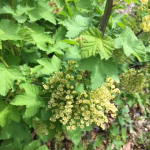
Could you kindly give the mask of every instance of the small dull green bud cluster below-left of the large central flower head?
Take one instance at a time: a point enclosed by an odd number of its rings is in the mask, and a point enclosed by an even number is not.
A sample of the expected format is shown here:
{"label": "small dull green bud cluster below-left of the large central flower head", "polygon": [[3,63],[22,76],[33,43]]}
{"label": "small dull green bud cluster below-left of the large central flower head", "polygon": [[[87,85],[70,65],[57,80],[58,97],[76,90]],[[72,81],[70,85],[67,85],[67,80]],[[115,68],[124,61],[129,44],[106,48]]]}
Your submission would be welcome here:
{"label": "small dull green bud cluster below-left of the large central flower head", "polygon": [[42,120],[33,120],[32,121],[33,128],[35,129],[35,133],[39,136],[48,135],[49,132],[45,124],[43,124]]}

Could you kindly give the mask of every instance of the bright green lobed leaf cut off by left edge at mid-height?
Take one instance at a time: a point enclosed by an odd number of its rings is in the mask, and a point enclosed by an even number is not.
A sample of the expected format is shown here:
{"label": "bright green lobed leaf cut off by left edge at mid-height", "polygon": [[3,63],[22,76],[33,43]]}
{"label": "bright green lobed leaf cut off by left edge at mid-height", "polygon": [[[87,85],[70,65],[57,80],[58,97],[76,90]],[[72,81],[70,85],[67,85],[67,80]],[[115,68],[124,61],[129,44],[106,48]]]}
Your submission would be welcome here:
{"label": "bright green lobed leaf cut off by left edge at mid-height", "polygon": [[15,80],[25,80],[20,69],[15,66],[6,68],[0,63],[0,94],[2,96],[7,95]]}

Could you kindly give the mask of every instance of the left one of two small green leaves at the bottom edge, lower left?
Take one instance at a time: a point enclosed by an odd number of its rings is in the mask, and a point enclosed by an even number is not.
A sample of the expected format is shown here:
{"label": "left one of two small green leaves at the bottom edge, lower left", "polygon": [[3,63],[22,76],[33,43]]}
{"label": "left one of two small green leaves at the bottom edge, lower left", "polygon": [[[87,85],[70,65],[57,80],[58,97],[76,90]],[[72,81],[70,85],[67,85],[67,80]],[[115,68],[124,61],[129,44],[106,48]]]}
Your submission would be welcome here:
{"label": "left one of two small green leaves at the bottom edge, lower left", "polygon": [[30,144],[25,146],[23,150],[37,150],[41,145],[39,140],[32,141]]}

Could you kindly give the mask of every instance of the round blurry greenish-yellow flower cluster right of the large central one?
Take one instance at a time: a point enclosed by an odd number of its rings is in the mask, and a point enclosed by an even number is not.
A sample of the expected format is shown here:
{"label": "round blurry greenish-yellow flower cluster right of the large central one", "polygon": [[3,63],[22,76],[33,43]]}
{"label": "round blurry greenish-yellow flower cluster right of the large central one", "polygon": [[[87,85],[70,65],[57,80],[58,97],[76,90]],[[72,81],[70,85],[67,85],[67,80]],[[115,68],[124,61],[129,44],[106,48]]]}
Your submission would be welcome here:
{"label": "round blurry greenish-yellow flower cluster right of the large central one", "polygon": [[120,76],[120,83],[128,93],[143,93],[143,89],[147,87],[144,74],[135,69],[123,73]]}

